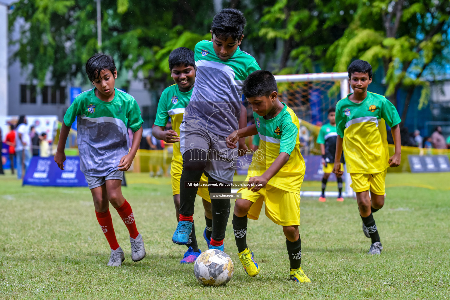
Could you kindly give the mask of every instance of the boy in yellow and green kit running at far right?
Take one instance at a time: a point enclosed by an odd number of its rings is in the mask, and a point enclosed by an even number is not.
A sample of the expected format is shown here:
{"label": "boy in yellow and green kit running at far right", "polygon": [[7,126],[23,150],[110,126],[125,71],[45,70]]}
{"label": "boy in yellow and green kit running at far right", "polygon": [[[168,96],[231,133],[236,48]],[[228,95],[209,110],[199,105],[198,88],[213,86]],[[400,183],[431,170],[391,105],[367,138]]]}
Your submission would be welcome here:
{"label": "boy in yellow and green kit running at far right", "polygon": [[[333,173],[342,176],[339,158],[345,154],[350,185],[363,221],[363,231],[371,238],[369,254],[381,254],[383,249],[373,213],[384,205],[387,167],[400,166],[400,116],[396,107],[384,96],[367,92],[372,82],[372,67],[355,60],[348,67],[351,88],[355,91],[336,105],[338,139]],[[395,154],[389,158],[386,123],[391,127]],[[369,194],[370,190],[370,194]]]}

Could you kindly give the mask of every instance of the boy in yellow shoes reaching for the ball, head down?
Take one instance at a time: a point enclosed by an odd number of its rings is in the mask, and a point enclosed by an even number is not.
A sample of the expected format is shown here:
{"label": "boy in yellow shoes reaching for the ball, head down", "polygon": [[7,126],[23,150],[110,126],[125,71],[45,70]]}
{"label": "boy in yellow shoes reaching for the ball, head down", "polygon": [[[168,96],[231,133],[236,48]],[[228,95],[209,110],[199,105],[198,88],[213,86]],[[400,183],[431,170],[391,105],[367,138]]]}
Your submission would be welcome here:
{"label": "boy in yellow shoes reaching for the ball, head down", "polygon": [[250,74],[244,81],[243,94],[252,105],[255,124],[234,131],[228,136],[227,145],[236,148],[238,139],[256,134],[261,140],[248,170],[248,187],[238,191],[242,197],[234,205],[233,229],[239,260],[249,276],[259,273],[253,251],[247,246],[247,218],[258,219],[265,202],[267,217],[283,226],[291,264],[290,279],[311,282],[300,267],[299,193],[305,161],[300,153],[299,120],[292,109],[278,100],[275,77],[269,71]]}

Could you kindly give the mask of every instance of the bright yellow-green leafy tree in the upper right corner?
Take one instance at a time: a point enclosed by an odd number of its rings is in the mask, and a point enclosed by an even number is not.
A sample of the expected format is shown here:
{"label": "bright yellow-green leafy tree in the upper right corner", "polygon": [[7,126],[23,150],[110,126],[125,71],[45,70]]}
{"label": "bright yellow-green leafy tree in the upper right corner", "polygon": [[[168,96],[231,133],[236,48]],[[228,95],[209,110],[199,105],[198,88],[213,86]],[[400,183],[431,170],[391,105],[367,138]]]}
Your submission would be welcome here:
{"label": "bright yellow-green leafy tree in the upper right corner", "polygon": [[401,116],[406,119],[411,97],[422,87],[419,109],[428,102],[430,87],[422,76],[439,73],[447,61],[450,40],[448,0],[359,1],[345,33],[329,48],[334,71],[344,72],[355,58],[383,67],[386,96],[397,106],[406,90]]}

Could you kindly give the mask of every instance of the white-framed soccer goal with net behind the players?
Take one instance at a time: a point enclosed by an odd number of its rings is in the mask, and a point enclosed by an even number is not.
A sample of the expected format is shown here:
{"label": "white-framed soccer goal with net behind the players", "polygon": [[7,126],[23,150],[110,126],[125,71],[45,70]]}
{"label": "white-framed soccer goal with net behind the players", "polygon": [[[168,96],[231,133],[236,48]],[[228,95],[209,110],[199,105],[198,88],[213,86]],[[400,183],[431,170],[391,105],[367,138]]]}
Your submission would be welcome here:
{"label": "white-framed soccer goal with net behind the players", "polygon": [[[350,92],[348,84],[348,73],[312,73],[295,75],[276,75],[279,89],[280,101],[286,103],[300,120],[300,143],[301,152],[304,157],[321,155],[320,145],[316,143],[320,126],[326,123],[329,107],[336,106],[339,99],[347,97]],[[317,164],[317,160],[315,161]],[[308,162],[306,162],[308,164]],[[307,166],[311,167],[311,166]],[[317,167],[317,172],[323,174],[321,166]],[[320,174],[320,172],[322,172]],[[317,176],[316,176],[317,177]],[[344,171],[343,179],[345,188],[343,197],[354,197],[355,193],[350,187],[351,178]],[[308,180],[308,176],[306,177]],[[317,180],[317,178],[313,179]],[[307,187],[306,187],[307,189]],[[301,196],[319,197],[319,191],[307,191],[302,188]],[[337,197],[338,192],[327,191],[327,197]]]}

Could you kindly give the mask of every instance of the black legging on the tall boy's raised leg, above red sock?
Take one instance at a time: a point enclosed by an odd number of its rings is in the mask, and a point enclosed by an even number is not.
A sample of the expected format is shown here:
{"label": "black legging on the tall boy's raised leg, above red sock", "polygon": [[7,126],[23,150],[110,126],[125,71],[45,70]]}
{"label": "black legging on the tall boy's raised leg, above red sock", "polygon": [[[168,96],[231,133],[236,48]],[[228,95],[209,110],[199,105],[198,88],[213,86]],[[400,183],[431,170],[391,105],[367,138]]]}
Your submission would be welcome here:
{"label": "black legging on the tall boy's raised leg, above red sock", "polygon": [[201,160],[202,150],[191,149],[183,155],[183,170],[180,178],[180,214],[190,216],[194,214],[195,197],[198,188],[187,188],[186,181],[199,182],[206,167],[206,160]]}

